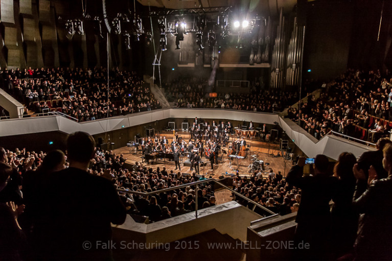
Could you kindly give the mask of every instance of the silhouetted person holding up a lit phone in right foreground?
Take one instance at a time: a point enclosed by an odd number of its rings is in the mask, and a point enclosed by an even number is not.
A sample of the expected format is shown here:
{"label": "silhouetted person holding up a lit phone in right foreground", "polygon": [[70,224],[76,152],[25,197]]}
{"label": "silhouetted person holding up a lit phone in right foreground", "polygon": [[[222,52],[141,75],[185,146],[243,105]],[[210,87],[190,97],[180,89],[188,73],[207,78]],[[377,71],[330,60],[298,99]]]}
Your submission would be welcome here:
{"label": "silhouetted person holding up a lit phone in right foreground", "polygon": [[308,243],[310,249],[297,253],[298,260],[323,260],[326,256],[326,238],[330,227],[330,206],[336,178],[329,176],[329,160],[325,155],[314,159],[314,175],[303,177],[305,157],[287,174],[286,181],[302,189],[301,203],[295,219],[296,244]]}

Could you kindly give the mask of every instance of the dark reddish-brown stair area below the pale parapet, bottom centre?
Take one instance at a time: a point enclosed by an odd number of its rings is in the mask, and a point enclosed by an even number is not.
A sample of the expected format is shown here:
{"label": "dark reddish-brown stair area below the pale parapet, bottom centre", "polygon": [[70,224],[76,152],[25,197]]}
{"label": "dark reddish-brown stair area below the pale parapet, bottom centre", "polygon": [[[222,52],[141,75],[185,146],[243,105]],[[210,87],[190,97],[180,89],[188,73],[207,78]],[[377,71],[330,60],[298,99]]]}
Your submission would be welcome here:
{"label": "dark reddish-brown stair area below the pale parapet, bottom centre", "polygon": [[[228,234],[221,234],[216,229],[189,236],[160,246],[160,249],[113,251],[114,260],[187,260],[217,261],[245,260],[244,244]],[[132,253],[129,253],[132,252]],[[124,255],[125,254],[125,255]]]}

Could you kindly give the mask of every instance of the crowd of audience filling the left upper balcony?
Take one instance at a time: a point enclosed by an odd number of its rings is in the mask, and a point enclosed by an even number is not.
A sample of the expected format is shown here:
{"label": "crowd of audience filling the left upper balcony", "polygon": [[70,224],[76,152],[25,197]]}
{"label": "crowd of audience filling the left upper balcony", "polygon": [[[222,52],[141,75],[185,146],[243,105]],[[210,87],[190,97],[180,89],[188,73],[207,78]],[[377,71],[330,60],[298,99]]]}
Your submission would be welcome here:
{"label": "crowd of audience filling the left upper balcony", "polygon": [[109,91],[107,82],[107,69],[102,67],[41,68],[31,75],[0,69],[2,88],[35,113],[52,109],[84,122],[160,108],[134,72],[112,69]]}

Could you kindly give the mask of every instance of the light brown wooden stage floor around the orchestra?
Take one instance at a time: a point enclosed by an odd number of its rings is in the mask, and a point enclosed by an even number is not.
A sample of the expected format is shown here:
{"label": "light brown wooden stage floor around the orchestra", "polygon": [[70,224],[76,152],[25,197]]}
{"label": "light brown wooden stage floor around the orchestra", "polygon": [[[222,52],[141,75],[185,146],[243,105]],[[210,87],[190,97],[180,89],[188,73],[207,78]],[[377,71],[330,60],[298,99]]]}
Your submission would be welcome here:
{"label": "light brown wooden stage floor around the orchestra", "polygon": [[[178,132],[179,136],[182,137],[182,139],[186,140],[187,143],[189,141],[189,132]],[[166,138],[169,140],[169,143],[173,140],[173,132],[162,132],[159,134],[160,136],[166,136]],[[158,136],[159,136],[158,135]],[[235,135],[230,136],[230,141],[235,138]],[[249,164],[251,164],[251,158],[252,155],[256,155],[257,159],[263,160],[264,161],[264,166],[269,167],[273,170],[273,172],[278,173],[280,171],[282,175],[286,176],[288,171],[291,168],[291,160],[284,160],[284,158],[279,154],[281,154],[281,151],[279,150],[279,144],[273,144],[273,143],[265,143],[263,141],[260,141],[259,138],[253,138],[252,140],[249,138],[246,138],[246,145],[250,145],[249,151],[247,153],[247,157],[244,159],[238,159],[238,167],[236,164],[236,160],[232,159],[232,167],[230,167],[230,162],[227,156],[223,156],[221,160],[221,153],[219,153],[219,164],[216,165],[214,164],[214,170],[211,170],[211,164],[210,161],[207,158],[203,157],[203,161],[206,163],[205,167],[200,167],[199,169],[199,174],[200,175],[205,175],[206,178],[212,176],[213,178],[218,179],[219,176],[224,174],[226,171],[228,174],[235,174],[236,169],[239,170],[240,176],[250,176],[251,173],[249,173]],[[141,148],[141,147],[139,147]],[[226,147],[222,147],[223,149],[227,149]],[[124,157],[127,159],[126,163],[134,165],[136,161],[139,161],[142,163],[142,158],[141,156],[142,151],[135,151],[134,148],[127,148],[127,147],[122,147],[116,150],[113,150],[113,152],[116,155],[124,154]],[[190,167],[185,167],[183,166],[183,162],[187,159],[186,156],[182,156],[180,159],[180,164],[181,164],[181,173],[190,173],[192,174],[194,171],[190,171]],[[269,166],[267,166],[265,163],[268,162]],[[156,163],[152,164],[146,164],[142,163],[143,166],[151,167],[153,169],[156,169],[156,167],[159,167],[161,170],[163,167],[166,167],[166,170],[170,172],[173,170],[174,172],[178,171],[175,170],[175,164],[174,161],[168,161],[166,160],[157,160]],[[263,173],[263,176],[267,176],[269,172],[269,169],[266,169],[266,171]]]}

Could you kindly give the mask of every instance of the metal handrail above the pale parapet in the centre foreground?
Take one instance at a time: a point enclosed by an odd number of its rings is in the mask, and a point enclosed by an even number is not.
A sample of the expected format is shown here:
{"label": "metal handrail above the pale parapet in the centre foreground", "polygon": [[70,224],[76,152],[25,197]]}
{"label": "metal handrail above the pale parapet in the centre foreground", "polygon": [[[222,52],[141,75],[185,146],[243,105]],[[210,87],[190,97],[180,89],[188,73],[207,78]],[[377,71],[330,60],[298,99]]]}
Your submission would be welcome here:
{"label": "metal handrail above the pale parapet in the centre foreground", "polygon": [[212,178],[211,179],[199,180],[199,181],[195,181],[195,182],[191,182],[191,183],[187,183],[187,184],[182,184],[182,185],[178,185],[178,186],[174,186],[174,187],[159,189],[158,191],[147,192],[147,193],[138,192],[138,191],[130,191],[128,189],[121,189],[121,188],[118,188],[117,191],[118,192],[123,192],[123,193],[128,193],[128,194],[141,195],[141,196],[148,197],[148,196],[155,195],[155,194],[165,193],[165,192],[168,192],[168,191],[174,191],[175,189],[179,189],[179,188],[183,188],[183,187],[187,187],[187,186],[196,186],[196,189],[195,189],[195,194],[196,194],[196,197],[195,197],[195,217],[197,219],[197,214],[198,214],[197,213],[197,210],[198,210],[197,209],[197,191],[199,190],[199,186],[198,185],[199,184],[203,184],[203,183],[208,183],[208,182],[214,182],[214,183],[218,184],[219,186],[222,186],[222,187],[228,189],[231,193],[235,194],[236,196],[238,196],[240,198],[243,198],[243,199],[245,199],[248,202],[253,203],[253,208],[251,209],[252,211],[255,211],[256,207],[260,207],[263,211],[265,211],[266,213],[268,213],[270,215],[279,215],[279,214],[276,214],[275,212],[269,210],[265,206],[262,206],[259,203],[257,203],[255,201],[253,201],[253,200],[251,200],[251,199],[241,195],[240,193],[234,191],[232,188],[229,188],[228,186],[226,186],[226,185],[222,184],[221,182],[219,182],[219,181],[217,181],[215,179],[212,179]]}

